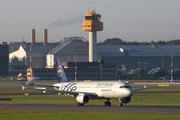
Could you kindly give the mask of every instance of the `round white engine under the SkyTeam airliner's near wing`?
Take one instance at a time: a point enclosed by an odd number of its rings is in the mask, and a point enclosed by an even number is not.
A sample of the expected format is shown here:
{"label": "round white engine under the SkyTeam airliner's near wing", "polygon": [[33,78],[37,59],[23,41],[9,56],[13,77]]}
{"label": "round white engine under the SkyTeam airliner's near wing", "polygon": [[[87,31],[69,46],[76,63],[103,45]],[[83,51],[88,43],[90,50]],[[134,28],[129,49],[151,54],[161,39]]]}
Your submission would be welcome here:
{"label": "round white engine under the SkyTeam airliner's near wing", "polygon": [[79,94],[77,97],[76,97],[76,101],[78,103],[81,103],[81,104],[86,104],[89,102],[89,96],[86,95],[86,94]]}

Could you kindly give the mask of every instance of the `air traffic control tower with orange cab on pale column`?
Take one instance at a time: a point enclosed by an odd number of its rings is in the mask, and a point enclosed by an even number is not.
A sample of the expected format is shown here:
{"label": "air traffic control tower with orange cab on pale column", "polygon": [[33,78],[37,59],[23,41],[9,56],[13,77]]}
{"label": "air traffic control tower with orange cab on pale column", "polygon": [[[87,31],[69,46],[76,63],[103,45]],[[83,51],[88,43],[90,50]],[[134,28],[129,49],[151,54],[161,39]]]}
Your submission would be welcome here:
{"label": "air traffic control tower with orange cab on pale column", "polygon": [[82,30],[89,32],[89,62],[97,61],[97,31],[103,30],[103,23],[100,21],[101,15],[96,14],[94,9],[85,14],[85,21]]}

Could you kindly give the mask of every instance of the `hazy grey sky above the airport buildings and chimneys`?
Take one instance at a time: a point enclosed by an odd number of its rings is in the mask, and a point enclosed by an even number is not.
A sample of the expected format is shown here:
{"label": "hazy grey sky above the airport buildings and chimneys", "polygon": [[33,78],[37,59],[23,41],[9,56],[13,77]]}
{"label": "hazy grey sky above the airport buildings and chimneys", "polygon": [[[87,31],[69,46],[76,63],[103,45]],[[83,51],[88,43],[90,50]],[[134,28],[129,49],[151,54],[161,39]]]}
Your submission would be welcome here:
{"label": "hazy grey sky above the airport buildings and chimneys", "polygon": [[158,41],[180,39],[180,0],[0,0],[0,41],[30,41],[30,30],[36,29],[36,41],[48,29],[48,41],[83,36],[81,29],[88,1],[96,1],[104,30],[98,42],[107,38],[125,41]]}

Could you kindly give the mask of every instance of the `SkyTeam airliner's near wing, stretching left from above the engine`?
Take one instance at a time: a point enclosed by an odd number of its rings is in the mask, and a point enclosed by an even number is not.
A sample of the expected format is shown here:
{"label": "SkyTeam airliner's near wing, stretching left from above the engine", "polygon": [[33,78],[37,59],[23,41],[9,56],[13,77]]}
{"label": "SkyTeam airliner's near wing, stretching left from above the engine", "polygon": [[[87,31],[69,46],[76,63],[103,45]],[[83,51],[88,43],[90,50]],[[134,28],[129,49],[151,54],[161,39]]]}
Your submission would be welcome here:
{"label": "SkyTeam airliner's near wing, stretching left from above the engine", "polygon": [[51,90],[51,89],[46,89],[45,87],[35,87],[34,90],[40,90],[43,91],[43,93],[47,92],[52,92],[52,93],[61,93],[61,94],[71,94],[73,96],[77,96],[79,93],[84,93],[89,96],[97,96],[96,93],[91,93],[91,92],[78,92],[78,91],[65,91],[65,90]]}

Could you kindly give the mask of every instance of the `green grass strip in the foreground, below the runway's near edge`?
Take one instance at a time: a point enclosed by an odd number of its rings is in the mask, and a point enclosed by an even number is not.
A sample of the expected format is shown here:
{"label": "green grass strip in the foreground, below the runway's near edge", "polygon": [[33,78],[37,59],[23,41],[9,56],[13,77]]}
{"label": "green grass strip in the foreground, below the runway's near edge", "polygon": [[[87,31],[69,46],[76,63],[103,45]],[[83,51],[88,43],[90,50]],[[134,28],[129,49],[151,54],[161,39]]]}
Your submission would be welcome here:
{"label": "green grass strip in the foreground, below the runway's near edge", "polygon": [[179,120],[180,114],[83,112],[45,110],[0,110],[1,120]]}

